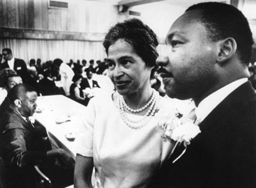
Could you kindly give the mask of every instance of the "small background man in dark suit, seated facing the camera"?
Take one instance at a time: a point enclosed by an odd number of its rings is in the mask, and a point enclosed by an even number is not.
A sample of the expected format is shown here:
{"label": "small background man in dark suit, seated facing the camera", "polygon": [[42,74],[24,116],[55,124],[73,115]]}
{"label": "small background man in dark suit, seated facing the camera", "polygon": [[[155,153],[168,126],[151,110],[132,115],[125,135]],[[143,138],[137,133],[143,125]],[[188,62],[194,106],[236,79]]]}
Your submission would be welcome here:
{"label": "small background man in dark suit, seated facing the camera", "polygon": [[[96,80],[93,80],[93,72],[91,70],[88,70],[86,72],[86,76],[87,78],[82,78],[82,82],[80,84],[81,90],[84,90],[86,88],[100,88],[98,85],[98,82]],[[86,98],[84,99],[84,105],[87,106],[87,104],[89,103],[90,99],[94,97],[94,95],[91,95],[90,93],[86,93]]]}

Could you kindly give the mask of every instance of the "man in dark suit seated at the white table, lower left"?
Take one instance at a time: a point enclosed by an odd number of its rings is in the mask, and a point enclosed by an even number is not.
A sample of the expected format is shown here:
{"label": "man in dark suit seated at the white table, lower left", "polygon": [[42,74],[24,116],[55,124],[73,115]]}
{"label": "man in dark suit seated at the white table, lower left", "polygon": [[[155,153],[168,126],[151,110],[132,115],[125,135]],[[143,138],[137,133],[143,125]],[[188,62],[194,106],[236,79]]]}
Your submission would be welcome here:
{"label": "man in dark suit seated at the white table, lower left", "polygon": [[19,84],[10,90],[8,97],[11,104],[0,118],[0,151],[8,169],[8,187],[34,187],[34,165],[39,165],[53,187],[72,184],[72,156],[61,148],[52,149],[44,126],[29,120],[36,109],[35,90]]}

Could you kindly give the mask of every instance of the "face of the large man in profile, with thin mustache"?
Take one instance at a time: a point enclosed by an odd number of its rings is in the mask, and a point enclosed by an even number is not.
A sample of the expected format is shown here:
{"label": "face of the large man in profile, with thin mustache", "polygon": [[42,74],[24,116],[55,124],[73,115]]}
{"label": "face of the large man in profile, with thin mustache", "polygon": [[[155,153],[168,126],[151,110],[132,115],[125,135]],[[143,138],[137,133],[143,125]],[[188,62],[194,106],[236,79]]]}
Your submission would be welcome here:
{"label": "face of the large man in profile, with thin mustache", "polygon": [[200,98],[215,84],[217,43],[207,38],[198,11],[178,18],[166,37],[166,49],[157,64],[163,68],[166,94],[172,98]]}

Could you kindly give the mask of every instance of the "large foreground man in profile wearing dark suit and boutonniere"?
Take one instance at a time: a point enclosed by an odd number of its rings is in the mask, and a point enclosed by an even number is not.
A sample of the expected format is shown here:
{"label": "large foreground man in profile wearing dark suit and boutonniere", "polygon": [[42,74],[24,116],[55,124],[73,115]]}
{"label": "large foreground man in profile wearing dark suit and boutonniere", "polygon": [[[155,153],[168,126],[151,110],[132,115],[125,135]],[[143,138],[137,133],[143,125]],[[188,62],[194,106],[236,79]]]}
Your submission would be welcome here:
{"label": "large foreground man in profile wearing dark suit and boutonniere", "polygon": [[166,93],[194,99],[201,133],[186,150],[183,144],[175,149],[152,187],[256,187],[256,94],[248,82],[253,40],[247,19],[227,4],[194,5],[173,23],[166,44],[157,60]]}

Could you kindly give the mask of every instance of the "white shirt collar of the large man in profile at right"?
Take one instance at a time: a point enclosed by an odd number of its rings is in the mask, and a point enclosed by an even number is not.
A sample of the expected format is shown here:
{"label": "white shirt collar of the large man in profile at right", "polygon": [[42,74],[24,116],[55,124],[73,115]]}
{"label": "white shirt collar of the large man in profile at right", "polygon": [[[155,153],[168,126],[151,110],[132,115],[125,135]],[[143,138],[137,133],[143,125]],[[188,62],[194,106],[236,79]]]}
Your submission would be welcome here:
{"label": "white shirt collar of the large man in profile at right", "polygon": [[203,99],[196,108],[197,120],[202,122],[216,106],[221,103],[231,92],[246,83],[248,78],[238,79]]}

